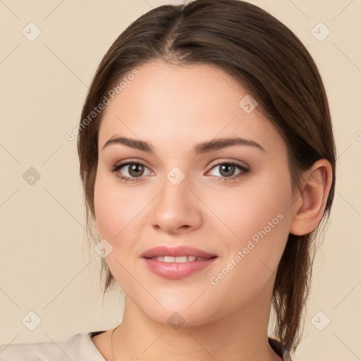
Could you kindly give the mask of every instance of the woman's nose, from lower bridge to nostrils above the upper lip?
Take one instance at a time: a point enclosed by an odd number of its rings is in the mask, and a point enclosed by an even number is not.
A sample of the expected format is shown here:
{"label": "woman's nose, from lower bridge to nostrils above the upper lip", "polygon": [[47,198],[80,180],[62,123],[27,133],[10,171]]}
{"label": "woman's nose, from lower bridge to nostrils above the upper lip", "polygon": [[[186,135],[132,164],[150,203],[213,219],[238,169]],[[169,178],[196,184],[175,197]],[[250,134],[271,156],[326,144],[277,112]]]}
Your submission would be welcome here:
{"label": "woman's nose, from lower bridge to nostrils above the upper lip", "polygon": [[165,178],[163,188],[152,202],[151,222],[158,231],[186,233],[202,224],[202,202],[190,190],[187,178],[178,185]]}

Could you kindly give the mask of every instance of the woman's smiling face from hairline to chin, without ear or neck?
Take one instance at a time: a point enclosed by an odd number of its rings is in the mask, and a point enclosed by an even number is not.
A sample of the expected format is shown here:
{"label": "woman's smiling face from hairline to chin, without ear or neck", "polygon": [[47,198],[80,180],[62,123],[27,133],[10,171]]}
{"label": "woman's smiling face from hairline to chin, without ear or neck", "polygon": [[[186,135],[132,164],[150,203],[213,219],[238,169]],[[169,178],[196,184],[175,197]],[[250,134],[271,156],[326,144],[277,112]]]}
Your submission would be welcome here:
{"label": "woman's smiling face from hairline to chin, without ear or neck", "polygon": [[[111,273],[133,304],[164,324],[173,312],[196,325],[264,307],[296,212],[285,142],[219,68],[154,62],[137,71],[99,128],[94,207],[99,234],[113,247]],[[147,142],[154,153],[108,142],[117,137]],[[260,147],[194,152],[199,143],[235,137]],[[170,278],[142,257],[158,245],[216,257]]]}

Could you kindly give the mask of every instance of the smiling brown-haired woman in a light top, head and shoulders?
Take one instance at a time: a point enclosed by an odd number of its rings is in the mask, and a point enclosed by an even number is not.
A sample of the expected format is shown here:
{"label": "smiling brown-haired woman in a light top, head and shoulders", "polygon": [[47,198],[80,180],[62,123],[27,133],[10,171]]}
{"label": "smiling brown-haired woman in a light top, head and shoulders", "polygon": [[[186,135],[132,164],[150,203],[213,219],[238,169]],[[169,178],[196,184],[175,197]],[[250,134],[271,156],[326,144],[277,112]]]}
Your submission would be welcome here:
{"label": "smiling brown-haired woman in a light top, head and shoulders", "polygon": [[140,16],[78,129],[88,229],[123,320],[1,360],[291,360],[335,153],[317,67],[279,20],[236,0]]}

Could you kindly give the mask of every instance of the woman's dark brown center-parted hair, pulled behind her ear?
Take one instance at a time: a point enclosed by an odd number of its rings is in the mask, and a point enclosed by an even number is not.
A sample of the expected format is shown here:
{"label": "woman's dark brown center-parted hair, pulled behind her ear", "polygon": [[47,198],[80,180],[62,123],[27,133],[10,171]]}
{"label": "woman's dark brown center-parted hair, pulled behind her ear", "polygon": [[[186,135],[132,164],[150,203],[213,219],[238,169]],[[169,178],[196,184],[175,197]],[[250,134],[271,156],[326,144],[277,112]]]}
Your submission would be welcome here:
{"label": "woman's dark brown center-parted hair, pulled behind her ear", "polygon": [[[331,163],[333,180],[322,221],[311,233],[288,235],[274,283],[274,334],[293,352],[303,331],[300,326],[310,291],[315,240],[329,221],[335,192],[336,148],[329,104],[317,66],[286,25],[245,1],[195,0],[178,6],[159,6],[137,18],[104,55],[82,109],[78,154],[90,234],[98,130],[104,111],[95,114],[91,121],[89,114],[121,78],[152,60],[179,65],[210,64],[238,80],[286,142],[293,190],[300,188],[300,172],[310,169],[315,161],[327,159]],[[116,281],[104,259],[102,273],[103,268],[104,297]]]}

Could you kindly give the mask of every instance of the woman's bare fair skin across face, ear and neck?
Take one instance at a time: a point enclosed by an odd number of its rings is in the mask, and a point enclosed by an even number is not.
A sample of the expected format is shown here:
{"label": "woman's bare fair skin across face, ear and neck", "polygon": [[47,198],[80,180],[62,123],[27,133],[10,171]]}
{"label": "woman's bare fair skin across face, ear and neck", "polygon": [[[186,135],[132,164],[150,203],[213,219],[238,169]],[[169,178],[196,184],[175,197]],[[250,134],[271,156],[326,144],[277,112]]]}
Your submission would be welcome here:
{"label": "woman's bare fair skin across face, ear and neck", "polygon": [[[302,192],[293,195],[285,142],[257,107],[246,114],[238,106],[247,92],[230,75],[214,66],[160,61],[137,69],[139,75],[106,107],[94,185],[95,226],[113,247],[106,262],[126,293],[123,321],[113,336],[114,357],[281,360],[267,340],[277,267],[288,233],[309,233],[319,224],[331,165],[317,161],[302,174]],[[265,152],[233,145],[192,154],[198,142],[235,135],[259,143]],[[120,144],[102,149],[115,136],[145,140],[156,155]],[[109,170],[128,159],[146,166],[137,183],[121,181]],[[232,160],[250,172],[226,182],[216,164]],[[166,178],[175,166],[185,175],[179,185]],[[124,166],[118,174],[136,178],[130,172]],[[240,172],[235,168],[232,175]],[[212,285],[210,277],[279,213],[279,224]],[[191,245],[218,258],[184,279],[164,279],[140,257],[156,245]],[[184,319],[178,329],[167,322],[173,312]],[[111,331],[92,338],[106,360],[114,360]]]}

